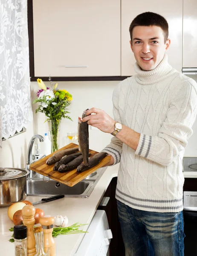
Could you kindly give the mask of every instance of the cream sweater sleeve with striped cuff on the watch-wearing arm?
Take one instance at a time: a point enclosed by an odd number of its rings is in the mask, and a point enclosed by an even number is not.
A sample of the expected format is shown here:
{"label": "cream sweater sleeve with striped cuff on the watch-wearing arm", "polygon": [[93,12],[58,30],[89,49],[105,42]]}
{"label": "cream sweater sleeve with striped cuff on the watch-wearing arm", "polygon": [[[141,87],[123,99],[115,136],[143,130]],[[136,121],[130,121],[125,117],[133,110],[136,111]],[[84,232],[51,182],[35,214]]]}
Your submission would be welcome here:
{"label": "cream sweater sleeve with striped cuff on the watch-wearing arm", "polygon": [[157,136],[141,134],[135,152],[163,166],[170,165],[185,149],[197,113],[197,84],[194,80],[180,84],[174,91]]}

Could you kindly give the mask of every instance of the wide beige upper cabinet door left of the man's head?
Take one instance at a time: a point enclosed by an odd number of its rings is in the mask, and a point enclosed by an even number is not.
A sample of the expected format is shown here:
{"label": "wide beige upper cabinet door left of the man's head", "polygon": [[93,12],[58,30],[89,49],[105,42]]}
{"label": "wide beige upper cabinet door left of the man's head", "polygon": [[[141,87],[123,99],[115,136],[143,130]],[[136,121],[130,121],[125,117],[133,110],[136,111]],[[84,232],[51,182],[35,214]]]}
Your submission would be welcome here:
{"label": "wide beige upper cabinet door left of the man's head", "polygon": [[120,0],[33,0],[35,76],[120,76]]}

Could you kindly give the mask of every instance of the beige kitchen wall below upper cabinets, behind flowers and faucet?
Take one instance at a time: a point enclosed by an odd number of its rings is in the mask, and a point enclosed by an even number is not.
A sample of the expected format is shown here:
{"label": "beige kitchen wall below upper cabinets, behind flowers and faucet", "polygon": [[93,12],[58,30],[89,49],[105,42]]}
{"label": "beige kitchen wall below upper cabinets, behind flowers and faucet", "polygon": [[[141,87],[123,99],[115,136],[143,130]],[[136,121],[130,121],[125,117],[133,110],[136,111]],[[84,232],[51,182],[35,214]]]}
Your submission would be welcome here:
{"label": "beige kitchen wall below upper cabinets, behind flowers and faucet", "polygon": [[[197,81],[197,76],[191,76]],[[70,108],[70,116],[73,120],[64,119],[61,122],[60,147],[64,146],[64,139],[69,131],[77,131],[78,116],[81,116],[85,108],[101,108],[110,116],[112,112],[112,93],[119,81],[82,81],[82,82],[59,82],[59,89],[69,91],[73,96]],[[47,83],[46,83],[47,84]],[[35,99],[37,82],[31,83],[32,101]],[[26,152],[29,140],[34,134],[41,134],[48,131],[47,124],[44,123],[43,113],[35,114],[36,105],[33,108],[33,122],[29,124],[26,132],[18,134],[8,140],[3,141],[3,148],[0,150],[0,167],[24,168],[26,165]],[[186,157],[197,157],[197,121],[193,126],[193,135],[188,140],[188,147],[185,149]],[[105,134],[99,130],[90,129],[90,148],[101,151],[110,142],[110,134]],[[38,143],[39,141],[35,141]]]}

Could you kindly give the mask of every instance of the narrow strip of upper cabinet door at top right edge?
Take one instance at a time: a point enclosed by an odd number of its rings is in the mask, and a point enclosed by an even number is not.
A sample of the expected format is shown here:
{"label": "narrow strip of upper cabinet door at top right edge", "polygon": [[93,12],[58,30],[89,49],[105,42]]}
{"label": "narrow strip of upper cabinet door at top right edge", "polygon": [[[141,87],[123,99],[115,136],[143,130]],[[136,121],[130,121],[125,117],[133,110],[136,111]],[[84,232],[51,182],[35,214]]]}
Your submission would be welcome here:
{"label": "narrow strip of upper cabinet door at top right edge", "polygon": [[183,67],[197,68],[197,0],[183,0]]}

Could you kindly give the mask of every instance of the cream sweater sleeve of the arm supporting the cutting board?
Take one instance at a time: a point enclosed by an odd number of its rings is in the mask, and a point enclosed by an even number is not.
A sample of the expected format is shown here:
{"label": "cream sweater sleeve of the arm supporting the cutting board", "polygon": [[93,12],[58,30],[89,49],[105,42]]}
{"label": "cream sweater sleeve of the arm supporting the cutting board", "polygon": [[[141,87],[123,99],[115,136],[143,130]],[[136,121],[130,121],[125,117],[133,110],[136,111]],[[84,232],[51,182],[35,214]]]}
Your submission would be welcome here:
{"label": "cream sweater sleeve of the arm supporting the cutting board", "polygon": [[[122,119],[119,113],[119,111],[121,111],[121,109],[119,109],[119,96],[120,96],[122,82],[120,82],[117,85],[117,87],[114,89],[113,98],[112,98],[114,119],[116,120],[116,122],[121,122],[121,123],[122,123]],[[116,163],[120,162],[120,157],[122,154],[122,141],[114,136],[112,137],[110,144],[108,144],[102,151],[107,152],[114,158],[113,165],[115,165]]]}

